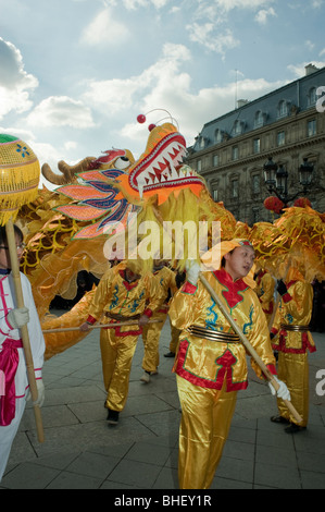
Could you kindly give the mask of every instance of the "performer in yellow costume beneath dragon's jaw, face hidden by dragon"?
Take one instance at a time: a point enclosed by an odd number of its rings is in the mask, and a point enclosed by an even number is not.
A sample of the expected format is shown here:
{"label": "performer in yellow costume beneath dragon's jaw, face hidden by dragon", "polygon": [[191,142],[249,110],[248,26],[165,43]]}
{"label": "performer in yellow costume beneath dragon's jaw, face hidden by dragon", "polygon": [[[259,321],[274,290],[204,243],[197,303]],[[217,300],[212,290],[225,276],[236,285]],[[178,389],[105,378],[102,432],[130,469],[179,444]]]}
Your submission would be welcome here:
{"label": "performer in yellow costume beneath dragon's jaw, face hidden by dragon", "polygon": [[132,261],[110,268],[100,280],[87,321],[80,326],[116,324],[135,320],[135,325],[103,328],[100,332],[102,371],[108,398],[108,423],[116,425],[127,393],[133,356],[139,334],[153,312],[163,303],[163,295],[155,279],[148,273],[140,277]]}

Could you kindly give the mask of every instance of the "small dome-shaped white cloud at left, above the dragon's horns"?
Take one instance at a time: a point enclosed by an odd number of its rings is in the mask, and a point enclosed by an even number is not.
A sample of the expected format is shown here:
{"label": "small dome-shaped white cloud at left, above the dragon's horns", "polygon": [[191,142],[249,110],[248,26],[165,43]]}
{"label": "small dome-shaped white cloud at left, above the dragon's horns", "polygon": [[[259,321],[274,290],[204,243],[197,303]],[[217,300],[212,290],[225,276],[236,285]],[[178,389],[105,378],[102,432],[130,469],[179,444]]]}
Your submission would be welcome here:
{"label": "small dome-shaped white cloud at left, above the dragon's horns", "polygon": [[95,126],[90,109],[67,96],[43,99],[27,117],[27,123],[37,127],[72,126],[80,130]]}

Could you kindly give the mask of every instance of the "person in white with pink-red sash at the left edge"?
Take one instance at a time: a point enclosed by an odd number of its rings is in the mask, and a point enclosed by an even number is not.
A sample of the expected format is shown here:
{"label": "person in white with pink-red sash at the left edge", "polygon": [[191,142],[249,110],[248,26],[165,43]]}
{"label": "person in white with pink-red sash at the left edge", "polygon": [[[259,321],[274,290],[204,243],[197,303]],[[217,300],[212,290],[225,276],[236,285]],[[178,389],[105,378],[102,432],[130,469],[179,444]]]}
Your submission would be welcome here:
{"label": "person in white with pink-red sash at the left edge", "polygon": [[[14,225],[17,257],[24,251],[23,233]],[[0,481],[4,474],[11,447],[23,417],[26,400],[30,398],[27,368],[20,328],[27,324],[38,390],[37,404],[42,405],[45,387],[41,379],[45,340],[32,287],[21,272],[25,307],[17,308],[11,275],[5,228],[0,227]]]}

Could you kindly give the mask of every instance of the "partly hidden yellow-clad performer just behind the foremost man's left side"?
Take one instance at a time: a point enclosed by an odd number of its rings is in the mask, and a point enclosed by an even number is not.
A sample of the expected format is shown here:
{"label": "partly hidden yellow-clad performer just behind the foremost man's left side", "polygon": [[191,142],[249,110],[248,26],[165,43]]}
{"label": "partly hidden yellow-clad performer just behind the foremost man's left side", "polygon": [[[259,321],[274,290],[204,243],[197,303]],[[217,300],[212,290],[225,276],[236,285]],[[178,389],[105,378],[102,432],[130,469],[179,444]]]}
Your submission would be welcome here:
{"label": "partly hidden yellow-clad performer just behind the foremost man's left side", "polygon": [[[164,265],[164,261],[154,261],[153,279],[158,281],[161,294],[164,297],[162,306],[153,313],[152,319],[160,320],[157,324],[143,326],[142,339],[145,344],[145,354],[142,368],[145,374],[141,379],[143,382],[150,381],[150,374],[154,375],[159,365],[159,339],[168,314],[168,302],[176,292],[175,272]],[[168,294],[171,290],[171,294]],[[170,296],[168,296],[170,295]]]}

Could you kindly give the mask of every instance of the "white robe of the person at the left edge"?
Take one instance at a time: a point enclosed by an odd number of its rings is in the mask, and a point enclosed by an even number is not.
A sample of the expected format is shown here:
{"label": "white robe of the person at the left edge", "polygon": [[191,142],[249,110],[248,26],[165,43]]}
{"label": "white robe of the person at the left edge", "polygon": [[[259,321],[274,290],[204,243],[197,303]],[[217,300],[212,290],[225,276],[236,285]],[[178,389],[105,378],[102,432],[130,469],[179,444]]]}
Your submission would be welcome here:
{"label": "white robe of the person at the left edge", "polygon": [[[21,282],[24,296],[24,305],[29,309],[28,334],[30,342],[30,350],[33,354],[35,378],[41,379],[41,369],[43,365],[45,354],[45,340],[35,307],[32,287],[26,278],[21,272]],[[20,340],[20,329],[11,329],[10,324],[7,321],[7,315],[10,309],[17,307],[15,301],[15,291],[12,275],[0,275],[0,352],[2,351],[2,343],[7,338]],[[28,376],[24,356],[24,349],[18,351],[18,366],[15,375],[15,395],[16,395],[16,411],[15,417],[12,423],[5,427],[0,426],[0,481],[4,473],[7,462],[10,455],[10,450],[16,431],[18,429],[26,403],[26,394],[28,393]]]}

